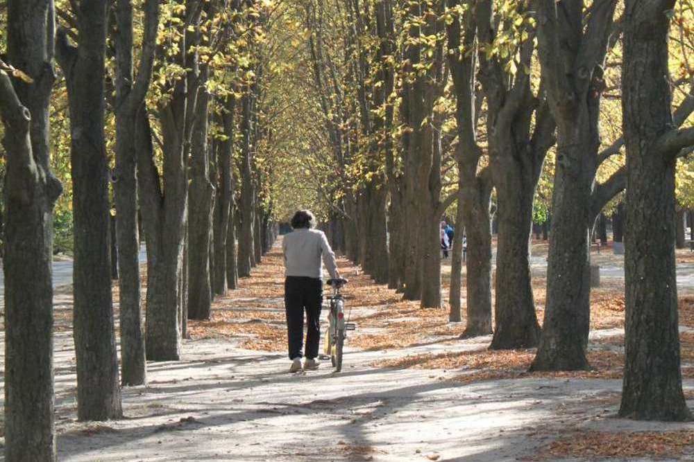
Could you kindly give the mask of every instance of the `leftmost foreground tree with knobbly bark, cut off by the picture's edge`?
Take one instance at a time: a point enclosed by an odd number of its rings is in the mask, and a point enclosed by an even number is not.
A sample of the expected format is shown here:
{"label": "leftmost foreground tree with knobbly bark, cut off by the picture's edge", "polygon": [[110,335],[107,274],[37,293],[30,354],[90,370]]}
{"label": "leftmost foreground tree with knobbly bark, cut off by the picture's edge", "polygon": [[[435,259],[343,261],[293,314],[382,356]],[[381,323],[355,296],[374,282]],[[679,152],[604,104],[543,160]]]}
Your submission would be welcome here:
{"label": "leftmost foreground tree with knobbly bark, cut off by the picture's edge", "polygon": [[[49,167],[55,75],[52,0],[10,0],[7,60],[0,62],[6,150],[5,457],[56,460],[53,413],[53,204],[62,190]],[[21,74],[19,74],[21,75]]]}

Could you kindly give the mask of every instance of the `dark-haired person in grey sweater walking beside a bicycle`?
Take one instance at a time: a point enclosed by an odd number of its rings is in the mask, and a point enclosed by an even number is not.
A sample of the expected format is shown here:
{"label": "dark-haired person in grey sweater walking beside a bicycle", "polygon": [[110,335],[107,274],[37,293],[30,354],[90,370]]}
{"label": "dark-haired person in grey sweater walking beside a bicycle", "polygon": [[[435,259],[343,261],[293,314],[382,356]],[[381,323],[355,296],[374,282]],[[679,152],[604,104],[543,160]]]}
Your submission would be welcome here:
{"label": "dark-haired person in grey sweater walking beside a bicycle", "polygon": [[287,343],[291,366],[289,372],[301,371],[303,320],[306,312],[306,360],[303,368],[319,367],[318,349],[321,341],[321,307],[323,305],[323,267],[321,258],[332,278],[339,278],[335,254],[323,231],[313,229],[316,219],[310,211],[294,213],[294,229],[282,240],[285,255],[285,312],[287,313]]}

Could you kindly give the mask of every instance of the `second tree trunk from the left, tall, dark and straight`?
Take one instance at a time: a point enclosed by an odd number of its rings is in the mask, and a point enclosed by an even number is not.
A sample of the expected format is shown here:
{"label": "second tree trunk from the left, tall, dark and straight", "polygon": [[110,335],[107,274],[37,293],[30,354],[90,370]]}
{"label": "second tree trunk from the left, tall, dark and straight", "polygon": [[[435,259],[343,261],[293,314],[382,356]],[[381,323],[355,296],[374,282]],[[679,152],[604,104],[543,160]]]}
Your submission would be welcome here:
{"label": "second tree trunk from the left, tall, dark and straight", "polygon": [[79,43],[59,31],[70,110],[74,217],[74,339],[78,420],[121,418],[111,299],[104,94],[108,1],[80,3]]}

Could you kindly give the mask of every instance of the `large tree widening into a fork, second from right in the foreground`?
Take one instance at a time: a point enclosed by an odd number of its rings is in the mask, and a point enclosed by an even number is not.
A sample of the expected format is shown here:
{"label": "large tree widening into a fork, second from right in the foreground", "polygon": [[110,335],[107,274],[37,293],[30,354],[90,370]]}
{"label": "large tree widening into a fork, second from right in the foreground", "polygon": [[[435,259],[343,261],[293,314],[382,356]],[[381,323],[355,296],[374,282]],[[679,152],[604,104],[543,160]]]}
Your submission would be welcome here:
{"label": "large tree widening into a fork, second from right in the foreground", "polygon": [[[557,123],[547,306],[534,370],[588,366],[591,195],[600,148],[604,60],[616,0],[538,0],[539,59]],[[598,211],[599,213],[599,211]]]}

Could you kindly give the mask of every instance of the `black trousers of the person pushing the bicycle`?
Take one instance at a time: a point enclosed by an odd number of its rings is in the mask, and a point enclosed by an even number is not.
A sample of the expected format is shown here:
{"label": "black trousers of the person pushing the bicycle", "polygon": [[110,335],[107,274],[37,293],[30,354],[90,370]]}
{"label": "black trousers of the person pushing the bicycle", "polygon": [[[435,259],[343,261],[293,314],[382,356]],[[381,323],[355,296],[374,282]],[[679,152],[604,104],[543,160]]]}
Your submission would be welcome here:
{"label": "black trousers of the person pushing the bicycle", "polygon": [[287,276],[285,279],[285,312],[289,359],[302,357],[303,314],[306,312],[306,357],[315,359],[321,343],[321,306],[323,281],[319,278]]}

